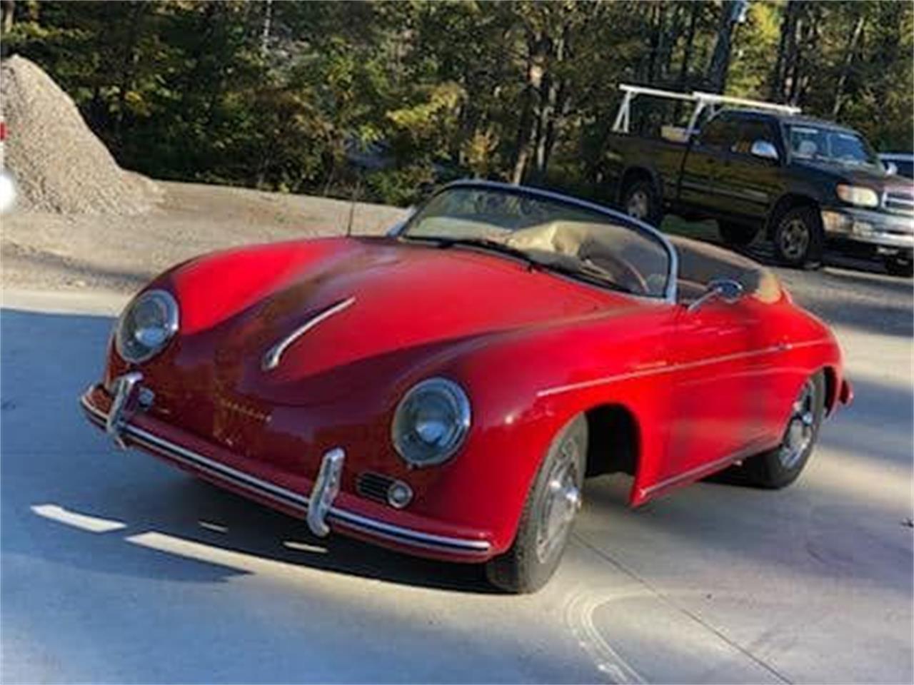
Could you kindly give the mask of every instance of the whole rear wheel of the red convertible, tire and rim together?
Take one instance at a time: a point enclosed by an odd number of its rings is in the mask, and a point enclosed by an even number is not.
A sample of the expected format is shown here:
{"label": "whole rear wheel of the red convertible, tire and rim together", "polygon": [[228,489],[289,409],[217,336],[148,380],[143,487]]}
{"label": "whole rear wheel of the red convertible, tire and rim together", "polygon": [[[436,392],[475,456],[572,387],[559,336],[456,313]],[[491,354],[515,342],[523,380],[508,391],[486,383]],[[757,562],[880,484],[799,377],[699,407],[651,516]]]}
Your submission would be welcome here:
{"label": "whole rear wheel of the red convertible, tire and rim together", "polygon": [[825,413],[825,380],[822,372],[808,378],[793,401],[781,445],[746,459],[740,479],[758,488],[779,489],[800,476],[813,453]]}

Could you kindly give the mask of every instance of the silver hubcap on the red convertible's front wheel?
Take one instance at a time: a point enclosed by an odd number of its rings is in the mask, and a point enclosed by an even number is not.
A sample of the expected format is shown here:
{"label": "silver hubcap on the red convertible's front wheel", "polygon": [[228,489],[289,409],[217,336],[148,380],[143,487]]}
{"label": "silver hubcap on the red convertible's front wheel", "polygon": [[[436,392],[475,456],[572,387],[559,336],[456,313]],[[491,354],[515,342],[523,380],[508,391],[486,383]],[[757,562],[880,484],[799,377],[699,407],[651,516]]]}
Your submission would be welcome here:
{"label": "silver hubcap on the red convertible's front wheel", "polygon": [[561,546],[581,504],[578,443],[566,440],[558,454],[559,458],[549,471],[546,498],[537,525],[537,557],[540,562],[546,562]]}

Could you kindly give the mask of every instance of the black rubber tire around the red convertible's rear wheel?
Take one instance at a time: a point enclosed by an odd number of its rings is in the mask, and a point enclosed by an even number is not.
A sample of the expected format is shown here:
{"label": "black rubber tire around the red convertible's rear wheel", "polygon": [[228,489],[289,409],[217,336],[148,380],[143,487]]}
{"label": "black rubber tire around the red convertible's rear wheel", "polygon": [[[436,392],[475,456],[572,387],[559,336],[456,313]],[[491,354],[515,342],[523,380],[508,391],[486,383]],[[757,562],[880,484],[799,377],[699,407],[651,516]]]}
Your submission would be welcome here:
{"label": "black rubber tire around the red convertible's rear wheel", "polygon": [[[746,459],[739,467],[728,469],[730,482],[741,482],[756,488],[778,490],[786,488],[800,476],[803,467],[806,466],[806,462],[813,453],[815,441],[819,437],[819,427],[822,426],[822,418],[825,414],[824,374],[820,371],[803,384],[800,395],[794,400],[794,410],[796,405],[802,402],[807,388],[811,392],[811,396],[808,406],[802,407],[802,413],[810,414],[809,418],[812,423],[805,424],[802,417],[798,417],[797,412],[792,411],[791,418],[788,419],[787,427],[784,429],[781,445]],[[801,430],[805,427],[809,428],[809,439],[804,442],[802,449],[791,451],[791,434],[796,429],[795,421],[799,421],[802,426]]]}

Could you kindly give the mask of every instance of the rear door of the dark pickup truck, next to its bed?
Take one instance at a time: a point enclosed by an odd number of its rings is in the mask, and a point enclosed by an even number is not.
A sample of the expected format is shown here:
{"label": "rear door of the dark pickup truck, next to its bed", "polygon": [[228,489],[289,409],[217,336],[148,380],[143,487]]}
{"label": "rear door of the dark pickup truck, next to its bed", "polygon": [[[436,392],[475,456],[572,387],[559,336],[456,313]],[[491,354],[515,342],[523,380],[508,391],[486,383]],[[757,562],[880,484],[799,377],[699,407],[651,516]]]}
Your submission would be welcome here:
{"label": "rear door of the dark pickup truck, next to its bed", "polygon": [[723,192],[724,163],[737,139],[739,121],[722,112],[708,121],[685,154],[679,179],[679,201],[709,215],[729,214],[728,196]]}

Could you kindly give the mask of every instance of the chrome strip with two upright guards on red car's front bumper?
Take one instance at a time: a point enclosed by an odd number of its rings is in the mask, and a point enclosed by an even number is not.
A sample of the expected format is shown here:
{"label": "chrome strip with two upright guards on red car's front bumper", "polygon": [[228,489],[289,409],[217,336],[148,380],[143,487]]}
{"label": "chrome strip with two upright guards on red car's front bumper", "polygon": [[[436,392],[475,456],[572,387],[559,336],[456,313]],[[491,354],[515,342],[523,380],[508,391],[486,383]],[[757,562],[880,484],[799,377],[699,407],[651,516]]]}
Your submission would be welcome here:
{"label": "chrome strip with two upright guards on red car's front bumper", "polygon": [[239,469],[233,469],[227,464],[143,430],[130,422],[131,416],[138,407],[147,406],[143,400],[152,395],[142,387],[142,380],[143,375],[138,373],[119,376],[114,382],[112,409],[108,414],[90,403],[89,396],[92,387],[80,397],[80,405],[86,415],[93,423],[111,435],[119,447],[125,447],[129,439],[139,447],[163,454],[174,461],[192,466],[218,479],[226,480],[236,487],[280,502],[285,506],[303,510],[308,527],[319,537],[329,534],[332,525],[339,525],[390,543],[399,543],[432,552],[479,557],[489,555],[491,544],[484,540],[454,538],[416,531],[335,507],[334,501],[339,493],[345,462],[345,452],[341,448],[331,449],[324,454],[310,496],[305,497],[298,492],[251,476]]}

